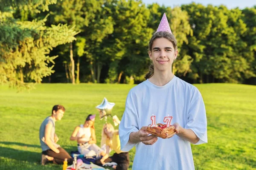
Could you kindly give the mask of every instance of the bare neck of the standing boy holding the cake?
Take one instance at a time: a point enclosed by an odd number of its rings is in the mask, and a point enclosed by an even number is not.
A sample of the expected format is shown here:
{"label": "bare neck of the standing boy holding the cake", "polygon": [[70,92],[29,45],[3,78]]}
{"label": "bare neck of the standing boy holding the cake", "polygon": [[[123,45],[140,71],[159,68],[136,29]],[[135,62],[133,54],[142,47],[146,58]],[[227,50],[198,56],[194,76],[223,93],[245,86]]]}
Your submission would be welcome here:
{"label": "bare neck of the standing boy holding the cake", "polygon": [[152,77],[150,77],[148,80],[157,86],[164,86],[168,82],[172,80],[174,77],[174,74],[172,71],[154,71],[154,74]]}

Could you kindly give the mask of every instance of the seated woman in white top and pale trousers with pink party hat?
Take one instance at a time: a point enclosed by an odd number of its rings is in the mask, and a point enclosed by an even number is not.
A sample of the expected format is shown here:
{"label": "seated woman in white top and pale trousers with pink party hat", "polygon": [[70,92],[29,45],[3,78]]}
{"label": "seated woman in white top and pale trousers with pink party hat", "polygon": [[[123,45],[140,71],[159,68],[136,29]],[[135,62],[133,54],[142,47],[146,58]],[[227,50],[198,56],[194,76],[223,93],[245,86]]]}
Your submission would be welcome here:
{"label": "seated woman in white top and pale trousers with pink party hat", "polygon": [[77,141],[77,148],[79,153],[84,156],[103,156],[108,158],[99,146],[96,145],[96,135],[94,128],[94,121],[96,115],[89,114],[84,122],[84,125],[77,126],[73,131],[70,140]]}

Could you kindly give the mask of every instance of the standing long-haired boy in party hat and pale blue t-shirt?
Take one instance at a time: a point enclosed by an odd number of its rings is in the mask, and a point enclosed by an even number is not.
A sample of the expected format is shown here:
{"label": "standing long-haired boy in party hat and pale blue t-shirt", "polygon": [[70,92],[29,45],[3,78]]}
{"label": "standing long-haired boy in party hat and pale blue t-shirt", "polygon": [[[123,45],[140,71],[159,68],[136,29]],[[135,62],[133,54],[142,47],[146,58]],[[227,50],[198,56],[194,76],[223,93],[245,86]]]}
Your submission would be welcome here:
{"label": "standing long-haired boy in party hat and pale blue t-shirt", "polygon": [[[166,15],[149,42],[148,55],[153,64],[146,81],[129,92],[119,125],[121,150],[136,146],[134,170],[195,169],[190,143],[207,143],[207,119],[203,98],[195,86],[172,73],[178,54]],[[163,123],[172,116],[176,135],[157,138],[146,132],[151,116]]]}

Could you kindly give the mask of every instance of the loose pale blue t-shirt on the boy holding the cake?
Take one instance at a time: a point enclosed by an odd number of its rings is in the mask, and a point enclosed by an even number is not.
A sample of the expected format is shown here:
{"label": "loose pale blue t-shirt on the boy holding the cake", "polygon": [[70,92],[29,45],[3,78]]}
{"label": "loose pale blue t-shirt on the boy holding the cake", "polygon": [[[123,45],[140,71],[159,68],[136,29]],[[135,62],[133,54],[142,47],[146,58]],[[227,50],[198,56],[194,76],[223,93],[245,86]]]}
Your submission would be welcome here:
{"label": "loose pale blue t-shirt on the boy holding the cake", "polygon": [[200,139],[196,144],[207,143],[206,111],[198,89],[176,76],[164,86],[154,85],[147,79],[130,90],[119,125],[121,150],[129,151],[136,146],[133,170],[195,169],[190,142],[177,135],[158,138],[153,145],[128,143],[131,132],[151,124],[152,114],[157,123],[164,123],[164,117],[169,114],[173,117],[171,124],[177,122],[195,132]]}

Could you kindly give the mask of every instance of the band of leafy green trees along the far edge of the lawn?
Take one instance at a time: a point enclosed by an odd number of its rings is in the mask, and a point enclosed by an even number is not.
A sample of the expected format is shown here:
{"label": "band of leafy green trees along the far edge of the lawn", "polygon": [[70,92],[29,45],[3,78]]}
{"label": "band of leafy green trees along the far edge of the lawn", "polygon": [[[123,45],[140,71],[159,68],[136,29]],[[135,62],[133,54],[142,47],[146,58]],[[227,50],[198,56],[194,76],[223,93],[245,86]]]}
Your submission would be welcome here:
{"label": "band of leafy green trees along the far edge of the lawn", "polygon": [[256,84],[256,6],[171,8],[141,0],[3,0],[0,82],[140,83],[164,12],[178,42],[177,76]]}

